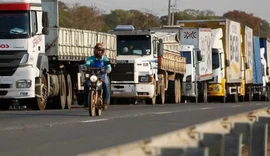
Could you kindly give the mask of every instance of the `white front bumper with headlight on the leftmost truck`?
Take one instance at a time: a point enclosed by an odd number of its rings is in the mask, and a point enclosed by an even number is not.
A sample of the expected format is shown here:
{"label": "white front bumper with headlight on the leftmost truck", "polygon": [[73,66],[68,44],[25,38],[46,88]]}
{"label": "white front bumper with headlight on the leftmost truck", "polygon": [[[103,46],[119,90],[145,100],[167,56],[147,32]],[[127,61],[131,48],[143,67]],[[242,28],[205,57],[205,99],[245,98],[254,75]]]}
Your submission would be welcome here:
{"label": "white front bumper with headlight on the leftmost truck", "polygon": [[[12,76],[0,76],[0,99],[34,98],[36,75],[35,68],[26,66],[18,68]],[[29,82],[24,84],[30,84],[30,87],[19,88],[19,81],[25,80]]]}

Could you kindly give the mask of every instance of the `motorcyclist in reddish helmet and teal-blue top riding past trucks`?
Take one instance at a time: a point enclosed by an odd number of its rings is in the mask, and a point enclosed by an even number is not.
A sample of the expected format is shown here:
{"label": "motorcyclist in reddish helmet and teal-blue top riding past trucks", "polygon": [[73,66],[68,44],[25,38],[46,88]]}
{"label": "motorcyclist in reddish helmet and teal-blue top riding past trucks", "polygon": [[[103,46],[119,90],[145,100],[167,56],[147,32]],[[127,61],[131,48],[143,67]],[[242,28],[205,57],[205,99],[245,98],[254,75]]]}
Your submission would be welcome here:
{"label": "motorcyclist in reddish helmet and teal-blue top riding past trucks", "polygon": [[[102,43],[97,43],[94,47],[94,56],[89,56],[86,59],[86,63],[84,64],[84,68],[87,67],[91,67],[94,63],[95,60],[100,60],[103,62],[107,62],[109,61],[108,58],[106,58],[105,56],[103,56],[105,52],[105,49],[103,47]],[[105,108],[106,106],[108,106],[108,101],[110,98],[110,90],[109,90],[109,82],[107,79],[107,74],[109,74],[112,71],[112,67],[110,64],[105,66],[106,69],[106,73],[104,76],[104,82],[102,83],[102,87],[103,87],[103,107]],[[84,82],[84,107],[88,107],[88,94],[89,94],[89,80],[86,80]]]}

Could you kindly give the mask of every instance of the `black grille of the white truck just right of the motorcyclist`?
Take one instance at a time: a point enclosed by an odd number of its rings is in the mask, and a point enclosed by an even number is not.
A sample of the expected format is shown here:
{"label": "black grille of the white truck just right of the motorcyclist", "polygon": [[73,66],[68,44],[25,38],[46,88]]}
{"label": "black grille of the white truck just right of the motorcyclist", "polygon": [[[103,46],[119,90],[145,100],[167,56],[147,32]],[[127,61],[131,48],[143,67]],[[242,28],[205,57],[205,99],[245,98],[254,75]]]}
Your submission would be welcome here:
{"label": "black grille of the white truck just right of the motorcyclist", "polygon": [[112,81],[134,81],[134,63],[117,63],[111,74]]}

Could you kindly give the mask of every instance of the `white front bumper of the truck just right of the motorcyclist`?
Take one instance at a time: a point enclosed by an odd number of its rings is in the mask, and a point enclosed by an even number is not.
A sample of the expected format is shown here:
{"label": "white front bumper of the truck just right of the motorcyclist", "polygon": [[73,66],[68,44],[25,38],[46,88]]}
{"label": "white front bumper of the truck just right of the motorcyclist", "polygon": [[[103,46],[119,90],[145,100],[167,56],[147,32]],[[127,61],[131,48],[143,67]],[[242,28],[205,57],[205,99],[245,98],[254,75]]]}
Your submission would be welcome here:
{"label": "white front bumper of the truck just right of the motorcyclist", "polygon": [[153,84],[111,84],[111,97],[116,98],[152,98]]}

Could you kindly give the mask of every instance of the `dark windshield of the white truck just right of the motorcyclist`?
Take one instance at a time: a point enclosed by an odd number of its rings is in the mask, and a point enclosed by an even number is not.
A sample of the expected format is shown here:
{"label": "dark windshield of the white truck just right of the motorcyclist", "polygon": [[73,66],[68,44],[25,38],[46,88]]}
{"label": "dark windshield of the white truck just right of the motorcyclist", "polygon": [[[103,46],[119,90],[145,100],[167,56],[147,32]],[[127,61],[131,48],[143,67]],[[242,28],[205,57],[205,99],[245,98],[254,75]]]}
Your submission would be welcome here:
{"label": "dark windshield of the white truck just right of the motorcyclist", "polygon": [[151,38],[149,35],[117,36],[118,55],[150,55]]}

